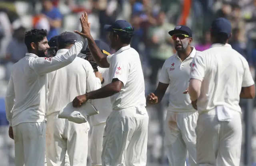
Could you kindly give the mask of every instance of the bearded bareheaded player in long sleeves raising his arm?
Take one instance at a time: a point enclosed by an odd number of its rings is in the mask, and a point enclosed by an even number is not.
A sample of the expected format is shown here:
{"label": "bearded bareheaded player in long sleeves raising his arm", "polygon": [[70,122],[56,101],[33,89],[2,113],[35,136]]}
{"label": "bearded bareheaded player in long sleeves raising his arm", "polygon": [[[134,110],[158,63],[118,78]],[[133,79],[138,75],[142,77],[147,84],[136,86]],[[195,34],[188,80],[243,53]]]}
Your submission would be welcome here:
{"label": "bearded bareheaded player in long sleeves raising his arm", "polygon": [[66,54],[46,58],[46,35],[47,31],[40,29],[26,32],[29,53],[13,65],[6,92],[6,117],[10,123],[9,136],[15,143],[16,166],[44,166],[46,74],[70,64],[84,44],[80,37]]}

